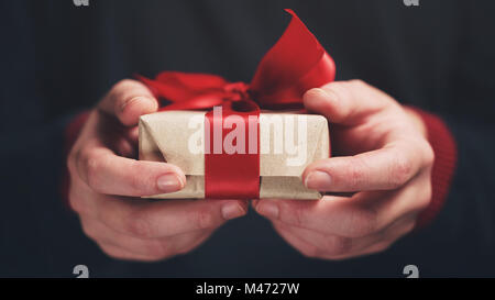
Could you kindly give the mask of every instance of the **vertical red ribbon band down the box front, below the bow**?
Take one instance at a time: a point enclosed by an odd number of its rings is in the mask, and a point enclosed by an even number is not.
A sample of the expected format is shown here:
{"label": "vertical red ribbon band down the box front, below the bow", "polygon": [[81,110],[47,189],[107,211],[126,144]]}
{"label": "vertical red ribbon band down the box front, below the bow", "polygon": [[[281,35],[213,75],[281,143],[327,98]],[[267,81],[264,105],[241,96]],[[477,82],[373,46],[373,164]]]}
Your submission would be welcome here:
{"label": "vertical red ribbon band down the box front, below the bow", "polygon": [[226,102],[205,115],[205,197],[257,199],[260,109],[254,104],[238,111],[233,105]]}

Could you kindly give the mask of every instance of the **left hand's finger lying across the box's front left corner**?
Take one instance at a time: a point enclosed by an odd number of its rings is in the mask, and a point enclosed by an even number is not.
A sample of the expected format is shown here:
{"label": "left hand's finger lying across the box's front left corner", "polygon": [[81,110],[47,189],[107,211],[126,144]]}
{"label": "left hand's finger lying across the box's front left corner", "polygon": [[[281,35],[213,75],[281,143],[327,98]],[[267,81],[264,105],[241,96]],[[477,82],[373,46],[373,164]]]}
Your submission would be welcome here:
{"label": "left hand's finger lying across the box's front left corner", "polygon": [[120,196],[150,196],[184,188],[180,168],[157,162],[117,156],[107,147],[88,144],[76,154],[79,177],[95,191]]}

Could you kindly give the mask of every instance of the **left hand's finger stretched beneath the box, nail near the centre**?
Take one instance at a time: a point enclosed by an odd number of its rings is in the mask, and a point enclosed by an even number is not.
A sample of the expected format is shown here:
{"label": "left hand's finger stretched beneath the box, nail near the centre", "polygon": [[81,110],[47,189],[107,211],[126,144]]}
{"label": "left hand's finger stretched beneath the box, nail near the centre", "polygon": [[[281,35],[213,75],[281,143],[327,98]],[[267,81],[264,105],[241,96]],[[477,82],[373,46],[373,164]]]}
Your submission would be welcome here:
{"label": "left hand's finger stretched beneath the box, nail near the centre", "polygon": [[97,218],[118,232],[140,238],[217,229],[248,212],[248,204],[241,200],[106,200],[98,202]]}

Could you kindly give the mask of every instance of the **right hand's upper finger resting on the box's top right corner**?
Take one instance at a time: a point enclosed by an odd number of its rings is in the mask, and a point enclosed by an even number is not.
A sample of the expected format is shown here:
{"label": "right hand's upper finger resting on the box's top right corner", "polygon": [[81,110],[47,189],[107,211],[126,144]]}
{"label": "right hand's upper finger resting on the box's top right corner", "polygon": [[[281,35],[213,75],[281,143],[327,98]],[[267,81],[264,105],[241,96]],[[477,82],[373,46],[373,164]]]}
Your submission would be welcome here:
{"label": "right hand's upper finger resting on the box's top right corner", "polygon": [[353,125],[393,103],[385,99],[389,97],[361,80],[334,81],[308,90],[304,104],[308,111],[320,113],[332,123]]}

